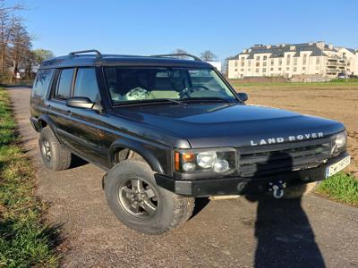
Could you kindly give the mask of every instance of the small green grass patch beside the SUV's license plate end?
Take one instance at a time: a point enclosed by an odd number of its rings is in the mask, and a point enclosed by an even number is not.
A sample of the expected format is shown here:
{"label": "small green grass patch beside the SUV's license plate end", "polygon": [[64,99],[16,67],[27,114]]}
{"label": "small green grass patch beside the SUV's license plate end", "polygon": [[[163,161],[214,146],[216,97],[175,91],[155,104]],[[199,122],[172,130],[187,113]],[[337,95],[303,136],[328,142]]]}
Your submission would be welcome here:
{"label": "small green grass patch beside the SUV's license plate end", "polygon": [[344,172],[323,180],[316,192],[348,205],[358,205],[358,180]]}

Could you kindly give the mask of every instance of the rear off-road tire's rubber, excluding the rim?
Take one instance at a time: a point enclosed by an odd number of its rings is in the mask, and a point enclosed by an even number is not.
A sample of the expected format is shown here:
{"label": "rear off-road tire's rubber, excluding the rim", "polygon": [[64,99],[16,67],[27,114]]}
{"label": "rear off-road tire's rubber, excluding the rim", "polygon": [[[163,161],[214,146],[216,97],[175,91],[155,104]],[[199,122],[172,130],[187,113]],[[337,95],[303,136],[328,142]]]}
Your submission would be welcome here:
{"label": "rear off-road tire's rubber, excluding the rim", "polygon": [[[43,146],[46,141],[48,142],[50,149],[50,158],[47,158],[47,155],[45,155],[43,151]],[[38,145],[43,163],[47,169],[52,171],[62,171],[70,167],[72,158],[71,152],[59,143],[54,132],[49,127],[45,127],[41,130]]]}

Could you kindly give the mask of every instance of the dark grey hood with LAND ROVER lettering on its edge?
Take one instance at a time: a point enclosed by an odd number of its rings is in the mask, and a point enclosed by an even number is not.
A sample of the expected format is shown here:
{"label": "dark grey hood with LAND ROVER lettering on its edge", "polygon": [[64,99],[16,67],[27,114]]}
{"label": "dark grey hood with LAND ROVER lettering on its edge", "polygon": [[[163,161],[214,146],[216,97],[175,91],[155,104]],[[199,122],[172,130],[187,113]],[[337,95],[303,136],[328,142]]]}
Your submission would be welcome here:
{"label": "dark grey hood with LAND ROVER lettering on its edge", "polygon": [[260,146],[345,130],[337,121],[257,105],[142,105],[116,108],[115,113],[186,138],[193,148]]}

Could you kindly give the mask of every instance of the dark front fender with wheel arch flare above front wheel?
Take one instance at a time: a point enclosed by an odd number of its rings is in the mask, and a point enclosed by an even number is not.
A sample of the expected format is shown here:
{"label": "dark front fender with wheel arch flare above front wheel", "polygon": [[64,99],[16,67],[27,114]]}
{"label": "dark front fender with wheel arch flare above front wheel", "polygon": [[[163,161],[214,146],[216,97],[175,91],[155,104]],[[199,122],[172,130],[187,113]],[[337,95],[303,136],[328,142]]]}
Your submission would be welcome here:
{"label": "dark front fender with wheel arch flare above front wheel", "polygon": [[140,141],[128,138],[119,138],[109,148],[108,161],[115,163],[115,153],[122,149],[130,149],[141,155],[153,172],[172,175],[172,148],[150,141]]}

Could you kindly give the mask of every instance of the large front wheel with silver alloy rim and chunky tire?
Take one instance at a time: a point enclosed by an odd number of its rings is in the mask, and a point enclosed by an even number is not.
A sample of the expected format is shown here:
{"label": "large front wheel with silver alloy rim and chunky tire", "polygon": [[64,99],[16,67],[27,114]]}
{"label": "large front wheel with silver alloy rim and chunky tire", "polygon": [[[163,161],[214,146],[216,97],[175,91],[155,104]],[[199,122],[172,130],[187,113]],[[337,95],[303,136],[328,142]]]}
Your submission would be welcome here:
{"label": "large front wheel with silver alloy rim and chunky tire", "polygon": [[161,234],[186,222],[194,198],[178,196],[157,186],[147,163],[124,160],[107,173],[107,202],[126,226],[147,234]]}

